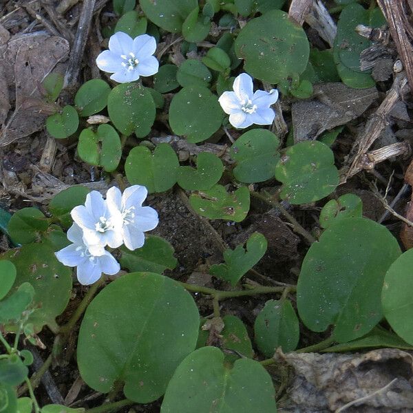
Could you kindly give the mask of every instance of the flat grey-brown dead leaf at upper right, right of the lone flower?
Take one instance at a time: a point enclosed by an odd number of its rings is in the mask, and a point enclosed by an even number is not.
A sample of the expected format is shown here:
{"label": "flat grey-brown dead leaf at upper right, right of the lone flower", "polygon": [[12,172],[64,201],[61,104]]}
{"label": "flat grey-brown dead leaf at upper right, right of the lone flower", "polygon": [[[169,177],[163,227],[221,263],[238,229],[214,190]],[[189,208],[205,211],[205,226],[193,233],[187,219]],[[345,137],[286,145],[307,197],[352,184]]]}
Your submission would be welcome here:
{"label": "flat grey-brown dead leaf at upper right, right of the lone flower", "polygon": [[314,140],[324,131],[358,118],[379,97],[377,89],[352,89],[343,83],[314,86],[312,100],[293,103],[294,142]]}

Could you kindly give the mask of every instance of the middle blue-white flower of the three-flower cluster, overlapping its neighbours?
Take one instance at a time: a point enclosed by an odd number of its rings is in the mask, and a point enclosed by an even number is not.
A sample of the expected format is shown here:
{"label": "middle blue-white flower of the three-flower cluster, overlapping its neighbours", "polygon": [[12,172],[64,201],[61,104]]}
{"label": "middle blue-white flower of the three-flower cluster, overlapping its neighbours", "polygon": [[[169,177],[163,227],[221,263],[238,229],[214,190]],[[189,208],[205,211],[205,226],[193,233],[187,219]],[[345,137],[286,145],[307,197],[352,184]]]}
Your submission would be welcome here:
{"label": "middle blue-white flower of the three-flower cluster, overlapping its neighbours", "polygon": [[123,244],[123,217],[120,211],[109,211],[107,202],[98,191],[88,193],[85,205],[74,207],[70,215],[81,227],[85,244],[93,255],[98,255],[96,251],[101,246],[118,248]]}

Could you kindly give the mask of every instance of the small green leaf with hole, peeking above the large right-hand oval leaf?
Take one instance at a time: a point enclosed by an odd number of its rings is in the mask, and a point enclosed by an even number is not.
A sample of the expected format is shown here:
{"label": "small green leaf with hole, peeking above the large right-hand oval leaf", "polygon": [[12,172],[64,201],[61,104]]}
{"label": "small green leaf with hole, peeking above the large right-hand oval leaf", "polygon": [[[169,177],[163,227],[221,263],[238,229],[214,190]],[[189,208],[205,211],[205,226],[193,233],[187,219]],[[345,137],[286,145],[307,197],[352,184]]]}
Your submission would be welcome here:
{"label": "small green leaf with hole, peeking above the large right-hand oval leaf", "polygon": [[321,228],[328,228],[343,218],[361,218],[363,202],[353,193],[341,195],[338,200],[328,201],[320,213]]}

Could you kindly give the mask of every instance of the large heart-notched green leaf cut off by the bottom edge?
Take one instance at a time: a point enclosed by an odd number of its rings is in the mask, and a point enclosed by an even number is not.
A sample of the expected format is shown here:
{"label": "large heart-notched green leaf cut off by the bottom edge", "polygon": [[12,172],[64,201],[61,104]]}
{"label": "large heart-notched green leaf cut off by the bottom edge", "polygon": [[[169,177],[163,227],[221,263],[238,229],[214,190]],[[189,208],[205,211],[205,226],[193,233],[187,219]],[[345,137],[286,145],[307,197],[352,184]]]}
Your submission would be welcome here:
{"label": "large heart-notched green leaf cut off by the bottom edge", "polygon": [[260,363],[224,363],[219,348],[202,347],[180,363],[168,385],[161,413],[276,413],[275,390]]}

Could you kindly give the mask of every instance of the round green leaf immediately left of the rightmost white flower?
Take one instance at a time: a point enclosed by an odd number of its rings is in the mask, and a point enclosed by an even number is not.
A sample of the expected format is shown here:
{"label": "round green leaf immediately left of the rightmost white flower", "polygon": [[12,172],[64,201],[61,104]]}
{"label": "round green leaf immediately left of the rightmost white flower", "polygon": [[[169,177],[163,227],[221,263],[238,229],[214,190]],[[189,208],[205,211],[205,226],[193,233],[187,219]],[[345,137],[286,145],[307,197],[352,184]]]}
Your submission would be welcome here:
{"label": "round green leaf immediately left of the rightmost white flower", "polygon": [[189,142],[210,138],[222,125],[224,112],[207,87],[188,86],[178,92],[169,107],[169,125],[174,134]]}

